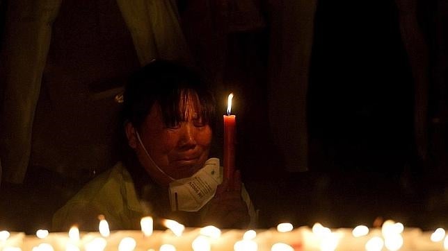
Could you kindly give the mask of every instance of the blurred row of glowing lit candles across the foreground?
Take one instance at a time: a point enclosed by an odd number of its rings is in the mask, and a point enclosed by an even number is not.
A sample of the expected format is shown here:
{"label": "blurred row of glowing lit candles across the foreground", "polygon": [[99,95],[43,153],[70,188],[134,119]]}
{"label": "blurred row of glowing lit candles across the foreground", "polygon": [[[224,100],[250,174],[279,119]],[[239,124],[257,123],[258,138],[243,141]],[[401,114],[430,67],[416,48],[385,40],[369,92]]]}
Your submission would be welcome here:
{"label": "blurred row of glowing lit candles across the foreground", "polygon": [[79,232],[72,227],[67,233],[38,230],[35,236],[22,232],[0,231],[2,251],[100,251],[100,250],[235,250],[235,251],[332,251],[332,250],[448,250],[445,230],[422,232],[418,228],[405,228],[401,223],[386,220],[381,228],[330,230],[320,223],[312,228],[281,223],[269,230],[219,230],[214,226],[185,228],[175,220],[163,220],[167,230],[153,230],[151,217],[141,219],[141,231],[120,230],[111,232],[106,219],[100,218],[99,232]]}

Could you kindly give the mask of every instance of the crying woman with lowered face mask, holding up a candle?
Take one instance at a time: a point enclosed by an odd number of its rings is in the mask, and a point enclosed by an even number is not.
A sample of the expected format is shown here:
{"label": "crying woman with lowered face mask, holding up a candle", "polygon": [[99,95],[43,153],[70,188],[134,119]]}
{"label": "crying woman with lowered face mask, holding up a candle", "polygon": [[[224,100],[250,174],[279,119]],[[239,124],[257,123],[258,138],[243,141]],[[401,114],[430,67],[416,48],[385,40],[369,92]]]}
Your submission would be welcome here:
{"label": "crying woman with lowered face mask, holding up a candle", "polygon": [[213,96],[190,69],[166,61],[143,67],[124,95],[129,157],[59,209],[54,230],[75,223],[97,230],[98,214],[112,229],[136,229],[147,215],[247,227],[255,214],[239,172],[222,182],[218,159],[208,159],[214,112]]}

